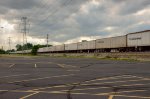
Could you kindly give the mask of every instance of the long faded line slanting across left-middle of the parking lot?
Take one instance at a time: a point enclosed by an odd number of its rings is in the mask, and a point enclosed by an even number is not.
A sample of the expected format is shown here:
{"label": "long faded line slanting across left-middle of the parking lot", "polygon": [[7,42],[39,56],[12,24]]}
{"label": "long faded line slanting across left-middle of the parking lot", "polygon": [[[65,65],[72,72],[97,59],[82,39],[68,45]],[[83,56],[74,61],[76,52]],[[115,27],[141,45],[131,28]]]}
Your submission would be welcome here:
{"label": "long faded line slanting across left-middle of the parking lot", "polygon": [[6,82],[6,83],[28,82],[28,81],[35,81],[35,80],[42,80],[42,79],[50,79],[50,78],[67,77],[67,76],[73,76],[73,75],[75,75],[75,74],[69,74],[69,75],[59,75],[59,76],[51,76],[51,77],[42,77],[42,78],[33,78],[33,79],[18,80],[18,81]]}

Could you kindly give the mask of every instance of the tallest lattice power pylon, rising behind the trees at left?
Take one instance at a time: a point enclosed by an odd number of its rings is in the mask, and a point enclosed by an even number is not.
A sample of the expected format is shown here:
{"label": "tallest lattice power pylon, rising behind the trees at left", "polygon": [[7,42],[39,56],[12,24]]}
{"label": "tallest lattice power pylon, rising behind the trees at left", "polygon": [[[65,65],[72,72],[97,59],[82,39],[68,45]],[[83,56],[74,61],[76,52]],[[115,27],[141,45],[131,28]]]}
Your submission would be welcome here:
{"label": "tallest lattice power pylon, rising behind the trees at left", "polygon": [[24,52],[24,50],[28,49],[28,46],[27,46],[27,31],[28,31],[28,19],[27,17],[22,17],[21,18],[21,33],[23,33],[23,46],[26,45],[24,48],[22,46],[22,51]]}

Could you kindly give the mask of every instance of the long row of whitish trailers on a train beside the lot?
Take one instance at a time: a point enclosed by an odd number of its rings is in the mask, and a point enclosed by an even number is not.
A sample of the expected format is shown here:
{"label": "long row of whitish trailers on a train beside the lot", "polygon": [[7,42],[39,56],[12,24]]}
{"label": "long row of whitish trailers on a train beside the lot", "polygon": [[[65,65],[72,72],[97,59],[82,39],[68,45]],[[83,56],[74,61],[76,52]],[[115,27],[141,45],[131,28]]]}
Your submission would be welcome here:
{"label": "long row of whitish trailers on a train beside the lot", "polygon": [[[150,30],[129,33],[127,35],[117,37],[44,47],[40,48],[38,50],[38,53],[92,53],[134,51],[150,51]],[[24,53],[29,52],[31,51],[24,51]]]}

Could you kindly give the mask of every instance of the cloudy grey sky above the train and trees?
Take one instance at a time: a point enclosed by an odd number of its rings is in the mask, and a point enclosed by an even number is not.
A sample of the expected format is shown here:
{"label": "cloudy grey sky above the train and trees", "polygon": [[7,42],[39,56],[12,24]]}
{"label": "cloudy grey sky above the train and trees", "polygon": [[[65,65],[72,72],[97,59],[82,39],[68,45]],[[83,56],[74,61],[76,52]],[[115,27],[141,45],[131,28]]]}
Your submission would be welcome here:
{"label": "cloudy grey sky above the train and trees", "polygon": [[150,0],[0,0],[0,48],[27,42],[59,45],[150,29]]}

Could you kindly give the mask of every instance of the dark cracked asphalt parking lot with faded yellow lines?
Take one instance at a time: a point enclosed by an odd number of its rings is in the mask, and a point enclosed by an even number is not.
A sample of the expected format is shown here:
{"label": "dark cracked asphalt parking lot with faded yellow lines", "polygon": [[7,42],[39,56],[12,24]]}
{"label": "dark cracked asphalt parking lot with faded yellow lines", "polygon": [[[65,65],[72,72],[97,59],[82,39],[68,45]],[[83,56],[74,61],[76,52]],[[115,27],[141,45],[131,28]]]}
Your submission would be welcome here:
{"label": "dark cracked asphalt parking lot with faded yellow lines", "polygon": [[0,99],[150,99],[150,63],[0,57]]}

